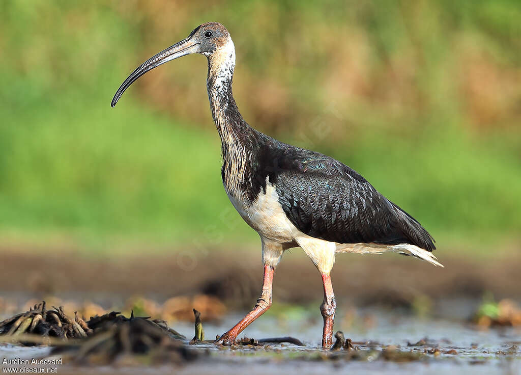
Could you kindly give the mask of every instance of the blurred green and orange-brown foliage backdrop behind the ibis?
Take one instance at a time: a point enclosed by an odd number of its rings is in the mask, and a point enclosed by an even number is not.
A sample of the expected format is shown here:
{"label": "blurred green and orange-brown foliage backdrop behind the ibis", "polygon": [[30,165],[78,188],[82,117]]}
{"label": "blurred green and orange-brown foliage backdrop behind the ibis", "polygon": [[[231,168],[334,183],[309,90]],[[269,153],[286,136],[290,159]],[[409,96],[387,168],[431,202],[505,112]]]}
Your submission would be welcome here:
{"label": "blurred green and orange-brown foliage backdrop behind the ibis", "polygon": [[516,0],[14,0],[0,4],[4,242],[257,241],[222,188],[202,56],[109,106],[135,67],[209,20],[234,39],[251,125],[355,168],[440,248],[519,241]]}

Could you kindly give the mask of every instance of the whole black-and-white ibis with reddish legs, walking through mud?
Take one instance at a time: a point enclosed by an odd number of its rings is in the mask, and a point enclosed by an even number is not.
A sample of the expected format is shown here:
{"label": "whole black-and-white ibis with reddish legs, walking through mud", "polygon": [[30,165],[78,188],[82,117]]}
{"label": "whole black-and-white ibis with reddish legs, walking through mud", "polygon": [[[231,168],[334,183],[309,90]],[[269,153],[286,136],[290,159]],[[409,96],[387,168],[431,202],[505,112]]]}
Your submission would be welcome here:
{"label": "whole black-and-white ibis with reddish legs, walking through mud", "polygon": [[221,139],[221,176],[235,209],[261,237],[264,280],[255,307],[216,343],[232,345],[271,306],[275,268],[284,251],[301,247],[320,272],[324,300],[322,348],[332,344],[337,303],[331,269],[340,252],[394,251],[441,266],[434,239],[418,221],[382,196],[349,166],[319,152],[292,146],[246,123],[232,95],[235,46],[218,22],[151,57],[121,84],[111,106],[147,71],[190,54],[208,59],[206,86]]}

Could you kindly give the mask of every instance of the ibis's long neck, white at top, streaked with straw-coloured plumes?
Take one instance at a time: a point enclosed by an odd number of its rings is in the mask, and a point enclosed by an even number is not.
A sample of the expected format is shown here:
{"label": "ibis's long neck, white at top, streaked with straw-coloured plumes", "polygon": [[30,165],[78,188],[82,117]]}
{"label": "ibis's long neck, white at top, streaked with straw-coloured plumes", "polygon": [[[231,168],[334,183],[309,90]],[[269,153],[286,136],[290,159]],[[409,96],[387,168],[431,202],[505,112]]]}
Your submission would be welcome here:
{"label": "ibis's long neck, white at top, streaked with straw-coloured plumes", "polygon": [[[208,56],[207,89],[215,126],[221,138],[222,179],[229,195],[240,197],[249,178],[255,130],[241,116],[232,95],[235,67],[233,42],[219,47]],[[251,182],[250,182],[251,183]]]}

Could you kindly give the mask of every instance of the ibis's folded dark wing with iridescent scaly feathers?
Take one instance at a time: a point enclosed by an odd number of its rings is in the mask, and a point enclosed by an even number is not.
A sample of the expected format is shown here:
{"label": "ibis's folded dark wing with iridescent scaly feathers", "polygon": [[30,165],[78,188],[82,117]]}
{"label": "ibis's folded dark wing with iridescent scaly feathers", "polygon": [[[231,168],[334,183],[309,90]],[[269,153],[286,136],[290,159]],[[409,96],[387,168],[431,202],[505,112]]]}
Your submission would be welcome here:
{"label": "ibis's folded dark wing with iridescent scaly feathers", "polygon": [[338,243],[409,243],[432,250],[421,225],[348,166],[320,155],[282,171],[279,202],[289,220],[309,236]]}

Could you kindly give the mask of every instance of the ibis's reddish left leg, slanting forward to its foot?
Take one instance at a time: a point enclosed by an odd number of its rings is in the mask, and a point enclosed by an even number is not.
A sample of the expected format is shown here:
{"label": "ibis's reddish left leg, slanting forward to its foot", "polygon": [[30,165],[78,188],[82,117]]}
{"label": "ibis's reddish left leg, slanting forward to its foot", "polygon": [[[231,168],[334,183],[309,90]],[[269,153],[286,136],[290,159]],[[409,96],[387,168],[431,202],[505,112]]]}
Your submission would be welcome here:
{"label": "ibis's reddish left leg, slanting forward to its foot", "polygon": [[262,294],[257,299],[257,303],[252,311],[246,314],[246,316],[237,324],[233,326],[228,332],[219,337],[216,344],[232,345],[235,343],[237,336],[252,323],[255,319],[260,317],[267,309],[271,306],[271,286],[273,284],[273,274],[275,267],[271,265],[264,266],[264,280],[262,286]]}

